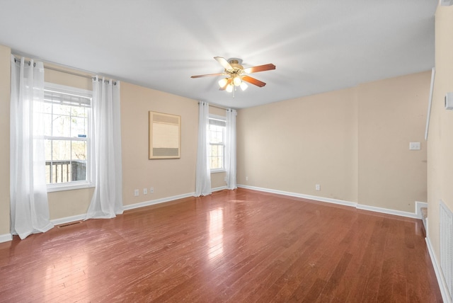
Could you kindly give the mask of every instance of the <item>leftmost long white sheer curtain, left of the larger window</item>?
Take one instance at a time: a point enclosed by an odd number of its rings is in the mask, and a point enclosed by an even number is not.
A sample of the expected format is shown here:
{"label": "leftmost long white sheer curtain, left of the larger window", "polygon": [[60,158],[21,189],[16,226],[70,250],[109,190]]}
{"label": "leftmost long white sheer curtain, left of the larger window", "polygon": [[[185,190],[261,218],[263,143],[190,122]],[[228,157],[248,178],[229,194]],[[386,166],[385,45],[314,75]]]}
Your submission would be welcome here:
{"label": "leftmost long white sheer curtain, left of the larger window", "polygon": [[53,227],[44,154],[44,64],[11,56],[11,234],[21,239]]}

